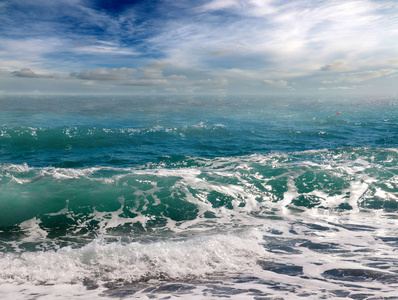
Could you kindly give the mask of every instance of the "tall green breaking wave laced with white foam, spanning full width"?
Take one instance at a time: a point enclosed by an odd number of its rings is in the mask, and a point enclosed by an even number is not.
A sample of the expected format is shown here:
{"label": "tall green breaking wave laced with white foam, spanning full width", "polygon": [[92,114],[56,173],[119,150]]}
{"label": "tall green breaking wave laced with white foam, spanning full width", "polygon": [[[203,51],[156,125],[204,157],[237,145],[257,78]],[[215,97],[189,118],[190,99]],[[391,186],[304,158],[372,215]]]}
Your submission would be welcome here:
{"label": "tall green breaking wave laced with white foam, spanning full width", "polygon": [[[341,148],[136,168],[0,166],[0,229],[29,220],[50,236],[116,235],[323,209],[398,208],[398,152]],[[230,221],[229,221],[230,222]]]}

